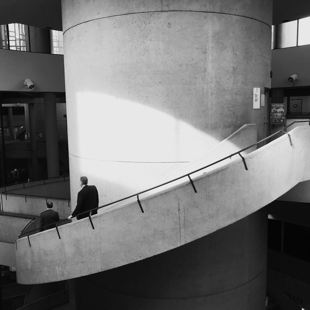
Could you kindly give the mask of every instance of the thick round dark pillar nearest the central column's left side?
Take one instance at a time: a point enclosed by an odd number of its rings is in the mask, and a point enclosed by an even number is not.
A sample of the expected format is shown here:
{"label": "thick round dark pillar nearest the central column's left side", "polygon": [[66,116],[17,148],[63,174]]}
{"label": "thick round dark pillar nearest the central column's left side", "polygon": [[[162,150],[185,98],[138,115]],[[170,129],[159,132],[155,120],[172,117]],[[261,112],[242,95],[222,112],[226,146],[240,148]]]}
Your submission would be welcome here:
{"label": "thick round dark pillar nearest the central column's left side", "polygon": [[48,178],[59,176],[59,150],[55,93],[45,93],[44,116]]}

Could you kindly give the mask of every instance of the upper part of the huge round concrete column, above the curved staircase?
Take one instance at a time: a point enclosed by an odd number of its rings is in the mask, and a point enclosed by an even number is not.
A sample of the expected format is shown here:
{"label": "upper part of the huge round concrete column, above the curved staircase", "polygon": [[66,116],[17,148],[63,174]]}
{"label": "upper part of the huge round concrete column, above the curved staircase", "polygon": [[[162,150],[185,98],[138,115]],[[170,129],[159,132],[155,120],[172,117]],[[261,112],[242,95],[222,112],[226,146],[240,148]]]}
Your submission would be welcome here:
{"label": "upper part of the huge round concrete column, above the curved staircase", "polygon": [[245,123],[262,138],[271,6],[64,0],[71,197],[81,175],[100,204],[132,194]]}

